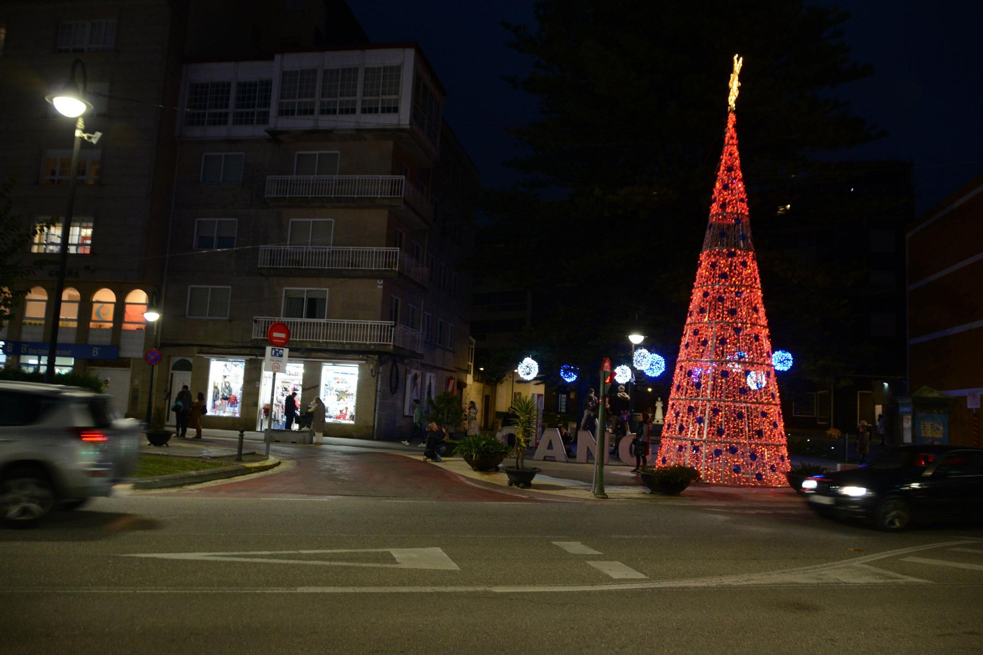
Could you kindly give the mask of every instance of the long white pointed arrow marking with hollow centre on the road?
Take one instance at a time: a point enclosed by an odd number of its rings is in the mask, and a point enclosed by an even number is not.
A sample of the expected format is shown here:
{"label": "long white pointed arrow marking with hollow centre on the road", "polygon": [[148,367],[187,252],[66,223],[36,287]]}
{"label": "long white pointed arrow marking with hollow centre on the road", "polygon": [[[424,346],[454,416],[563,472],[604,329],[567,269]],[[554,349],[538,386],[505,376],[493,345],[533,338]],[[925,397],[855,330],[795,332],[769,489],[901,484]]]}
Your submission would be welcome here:
{"label": "long white pointed arrow marking with hollow centre on the road", "polygon": [[[370,562],[339,562],[332,560],[286,560],[264,558],[263,555],[330,555],[335,553],[390,553],[395,564]],[[246,551],[235,553],[140,553],[126,558],[156,558],[158,560],[191,560],[197,562],[254,562],[263,564],[299,564],[315,566],[369,566],[377,568],[429,568],[460,570],[439,548],[360,548],[330,551]]]}

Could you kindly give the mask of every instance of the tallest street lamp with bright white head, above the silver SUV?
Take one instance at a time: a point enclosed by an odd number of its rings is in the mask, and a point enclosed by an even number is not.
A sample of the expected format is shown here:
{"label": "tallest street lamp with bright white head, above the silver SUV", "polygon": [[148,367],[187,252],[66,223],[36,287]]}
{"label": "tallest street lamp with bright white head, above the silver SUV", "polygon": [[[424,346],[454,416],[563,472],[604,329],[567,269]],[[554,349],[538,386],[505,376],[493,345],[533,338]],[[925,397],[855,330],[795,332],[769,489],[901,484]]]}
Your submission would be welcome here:
{"label": "tallest street lamp with bright white head, above the silver SUV", "polygon": [[[78,82],[78,73],[82,72],[82,86]],[[68,240],[69,230],[72,226],[72,210],[75,208],[75,187],[79,177],[79,151],[82,149],[82,140],[85,139],[95,144],[102,136],[100,132],[86,134],[86,124],[82,120],[82,115],[92,108],[91,103],[86,99],[87,78],[86,65],[81,59],[72,62],[72,72],[69,74],[68,82],[57,93],[52,93],[44,99],[54,105],[55,109],[64,116],[77,119],[75,122],[75,143],[72,145],[72,164],[69,168],[68,178],[68,204],[65,208],[65,215],[62,217],[61,244],[58,248],[58,277],[55,281],[54,304],[52,308],[51,337],[48,341],[48,367],[44,372],[44,382],[53,383],[55,381],[55,360],[58,349],[58,327],[61,323],[62,292],[65,290],[65,273],[68,270]]]}

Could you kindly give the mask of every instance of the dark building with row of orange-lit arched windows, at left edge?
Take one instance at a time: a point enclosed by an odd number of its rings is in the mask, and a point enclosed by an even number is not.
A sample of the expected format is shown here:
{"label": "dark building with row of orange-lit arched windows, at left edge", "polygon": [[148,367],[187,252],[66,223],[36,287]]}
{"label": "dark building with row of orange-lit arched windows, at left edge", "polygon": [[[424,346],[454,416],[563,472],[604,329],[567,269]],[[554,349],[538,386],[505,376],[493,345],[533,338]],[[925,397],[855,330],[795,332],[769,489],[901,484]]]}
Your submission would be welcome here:
{"label": "dark building with row of orange-lit arched windows, at left edge", "polygon": [[78,59],[94,105],[83,117],[86,132],[102,136],[81,150],[56,365],[98,376],[117,408],[138,416],[149,382],[143,313],[161,281],[174,176],[176,113],[164,107],[175,104],[180,85],[181,4],[0,5],[0,181],[15,181],[15,213],[51,224],[24,254],[38,268],[26,282],[24,305],[0,332],[0,359],[5,366],[46,368],[75,120],[44,98],[61,88]]}

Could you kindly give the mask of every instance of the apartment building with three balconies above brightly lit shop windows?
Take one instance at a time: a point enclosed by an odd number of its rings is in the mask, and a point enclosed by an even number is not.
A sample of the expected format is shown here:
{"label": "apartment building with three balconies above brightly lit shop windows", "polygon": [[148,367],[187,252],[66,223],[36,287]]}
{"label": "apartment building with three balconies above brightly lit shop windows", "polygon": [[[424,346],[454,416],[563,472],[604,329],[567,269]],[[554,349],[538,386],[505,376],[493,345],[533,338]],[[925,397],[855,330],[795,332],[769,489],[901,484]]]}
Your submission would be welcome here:
{"label": "apartment building with three balconies above brightly lit shop windows", "polygon": [[328,435],[392,439],[414,398],[467,385],[478,173],[444,97],[412,44],[185,66],[161,343],[205,427],[281,426],[296,391]]}

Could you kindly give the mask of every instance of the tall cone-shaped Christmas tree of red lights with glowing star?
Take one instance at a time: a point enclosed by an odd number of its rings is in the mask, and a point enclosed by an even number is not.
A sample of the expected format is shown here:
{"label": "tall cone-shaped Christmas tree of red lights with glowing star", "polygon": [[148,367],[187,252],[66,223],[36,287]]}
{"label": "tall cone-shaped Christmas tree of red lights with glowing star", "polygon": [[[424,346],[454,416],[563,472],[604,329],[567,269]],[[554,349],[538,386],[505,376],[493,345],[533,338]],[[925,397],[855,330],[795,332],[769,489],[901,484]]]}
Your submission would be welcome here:
{"label": "tall cone-shaped Christmas tree of red lights with glowing star", "polygon": [[691,466],[705,482],[777,487],[787,484],[788,451],[734,128],[742,62],[734,55],[710,224],[656,465]]}

